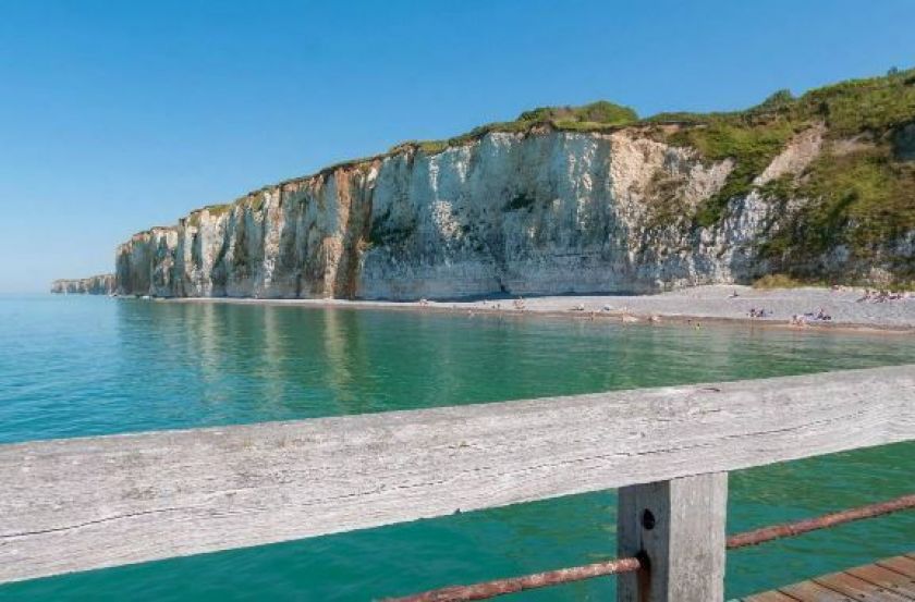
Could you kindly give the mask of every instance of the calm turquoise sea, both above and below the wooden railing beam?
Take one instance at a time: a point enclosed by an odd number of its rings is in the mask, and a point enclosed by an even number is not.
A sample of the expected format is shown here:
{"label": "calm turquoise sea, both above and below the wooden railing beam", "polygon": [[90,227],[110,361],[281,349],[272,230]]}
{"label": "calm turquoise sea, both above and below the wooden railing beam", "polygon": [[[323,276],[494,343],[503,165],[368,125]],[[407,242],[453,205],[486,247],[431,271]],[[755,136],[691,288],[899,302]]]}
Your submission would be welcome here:
{"label": "calm turquoise sea, both above and below the wooden railing beam", "polygon": [[[915,339],[0,297],[0,443],[915,361]],[[915,445],[732,474],[729,531],[910,493]],[[0,483],[2,495],[3,483]],[[0,586],[0,600],[370,600],[615,555],[612,491]],[[728,594],[915,549],[915,513],[728,557]],[[513,600],[608,600],[598,579]]]}

